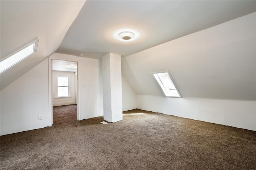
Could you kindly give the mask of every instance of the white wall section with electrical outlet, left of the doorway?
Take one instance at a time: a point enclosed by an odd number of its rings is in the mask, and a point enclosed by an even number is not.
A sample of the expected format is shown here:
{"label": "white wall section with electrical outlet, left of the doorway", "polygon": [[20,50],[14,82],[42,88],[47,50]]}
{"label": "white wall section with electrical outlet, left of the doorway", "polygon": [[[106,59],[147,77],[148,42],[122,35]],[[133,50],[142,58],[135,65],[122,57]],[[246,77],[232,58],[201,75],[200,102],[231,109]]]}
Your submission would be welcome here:
{"label": "white wall section with electrical outlet, left of the doorway", "polygon": [[[48,59],[1,92],[1,135],[49,126]],[[42,120],[38,116],[42,115]]]}

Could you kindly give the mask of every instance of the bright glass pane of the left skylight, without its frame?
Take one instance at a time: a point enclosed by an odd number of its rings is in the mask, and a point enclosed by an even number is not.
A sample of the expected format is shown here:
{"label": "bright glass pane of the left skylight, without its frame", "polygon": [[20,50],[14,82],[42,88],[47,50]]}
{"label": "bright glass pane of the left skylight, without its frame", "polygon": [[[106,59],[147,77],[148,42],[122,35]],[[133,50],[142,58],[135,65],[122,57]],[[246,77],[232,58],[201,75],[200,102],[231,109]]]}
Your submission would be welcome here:
{"label": "bright glass pane of the left skylight, without its frame", "polygon": [[32,43],[28,47],[22,49],[18,53],[15,53],[14,55],[8,57],[7,59],[0,62],[0,72],[8,69],[12,65],[18,63],[20,60],[28,57],[30,54],[34,53],[34,44]]}

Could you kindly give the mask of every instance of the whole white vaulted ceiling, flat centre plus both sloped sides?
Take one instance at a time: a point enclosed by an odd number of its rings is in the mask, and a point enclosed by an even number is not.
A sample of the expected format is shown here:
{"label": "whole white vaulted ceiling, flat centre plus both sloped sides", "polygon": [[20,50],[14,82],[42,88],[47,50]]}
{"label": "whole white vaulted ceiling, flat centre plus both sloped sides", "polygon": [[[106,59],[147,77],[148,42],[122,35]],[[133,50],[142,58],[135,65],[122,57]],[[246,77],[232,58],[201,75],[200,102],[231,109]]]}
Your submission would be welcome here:
{"label": "whole white vaulted ceiling, flat centre plus both sloped sides", "polygon": [[[36,53],[1,74],[1,89],[54,52],[95,59],[116,53],[138,95],[162,95],[151,73],[169,70],[183,97],[255,100],[255,0],[0,3],[1,59],[40,38]],[[139,37],[116,40],[124,28]]]}

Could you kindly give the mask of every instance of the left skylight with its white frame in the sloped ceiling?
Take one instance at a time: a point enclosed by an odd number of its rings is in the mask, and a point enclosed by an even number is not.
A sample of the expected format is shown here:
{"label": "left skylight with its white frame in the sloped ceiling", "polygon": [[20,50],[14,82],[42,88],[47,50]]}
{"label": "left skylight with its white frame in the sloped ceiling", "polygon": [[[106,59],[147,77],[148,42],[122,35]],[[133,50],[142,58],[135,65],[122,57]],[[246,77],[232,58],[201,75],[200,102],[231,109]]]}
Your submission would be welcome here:
{"label": "left skylight with its white frame in the sloped ceiling", "polygon": [[0,73],[3,73],[4,71],[10,69],[12,66],[16,65],[17,63],[19,63],[20,61],[22,61],[32,53],[36,52],[38,41],[39,39],[37,38],[36,40],[29,43],[25,47],[1,59]]}

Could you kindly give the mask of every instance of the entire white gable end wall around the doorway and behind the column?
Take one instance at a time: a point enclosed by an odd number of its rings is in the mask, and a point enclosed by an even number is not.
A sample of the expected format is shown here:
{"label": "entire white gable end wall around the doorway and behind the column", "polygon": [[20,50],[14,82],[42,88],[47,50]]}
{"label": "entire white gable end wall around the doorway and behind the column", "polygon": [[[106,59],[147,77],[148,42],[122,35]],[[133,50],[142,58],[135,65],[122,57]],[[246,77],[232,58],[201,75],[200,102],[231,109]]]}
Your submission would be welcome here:
{"label": "entire white gable end wall around the doorway and behind the column", "polygon": [[[78,88],[80,90],[80,119],[103,115],[102,61],[73,55],[54,53],[0,91],[1,135],[48,127],[52,123],[49,107],[49,88],[52,87],[51,59],[78,62]],[[50,76],[50,79],[49,79]],[[127,110],[136,108],[136,95],[124,81],[122,93]],[[130,103],[131,102],[131,103]],[[42,115],[42,120],[38,120]],[[50,115],[50,117],[49,117]]]}

